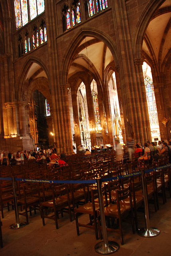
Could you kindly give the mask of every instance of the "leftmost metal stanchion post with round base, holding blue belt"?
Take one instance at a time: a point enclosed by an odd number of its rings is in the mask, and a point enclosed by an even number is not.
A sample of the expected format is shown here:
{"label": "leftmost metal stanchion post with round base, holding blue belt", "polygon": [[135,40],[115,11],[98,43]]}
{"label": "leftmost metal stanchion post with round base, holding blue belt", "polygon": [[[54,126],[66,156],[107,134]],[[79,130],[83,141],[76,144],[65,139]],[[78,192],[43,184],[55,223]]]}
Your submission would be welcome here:
{"label": "leftmost metal stanchion post with round base, holding blue belt", "polygon": [[16,215],[16,223],[10,225],[10,229],[23,228],[27,225],[26,222],[22,223],[19,220],[18,204],[17,204],[17,193],[16,193],[16,178],[12,177],[12,189],[14,194],[14,210]]}

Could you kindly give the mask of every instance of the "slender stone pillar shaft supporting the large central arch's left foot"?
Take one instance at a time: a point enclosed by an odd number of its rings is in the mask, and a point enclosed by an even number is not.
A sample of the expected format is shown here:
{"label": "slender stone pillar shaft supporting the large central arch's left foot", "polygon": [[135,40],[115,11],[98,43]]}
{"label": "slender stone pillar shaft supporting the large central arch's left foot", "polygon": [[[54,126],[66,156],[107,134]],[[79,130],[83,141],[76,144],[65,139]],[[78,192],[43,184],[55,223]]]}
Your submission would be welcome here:
{"label": "slender stone pillar shaft supporting the large central arch's left foot", "polygon": [[65,148],[68,152],[73,152],[73,143],[72,143],[72,134],[71,134],[71,124],[69,116],[69,104],[68,104],[68,84],[61,84],[61,96],[62,96],[62,106],[63,106],[63,127],[64,136],[65,136]]}

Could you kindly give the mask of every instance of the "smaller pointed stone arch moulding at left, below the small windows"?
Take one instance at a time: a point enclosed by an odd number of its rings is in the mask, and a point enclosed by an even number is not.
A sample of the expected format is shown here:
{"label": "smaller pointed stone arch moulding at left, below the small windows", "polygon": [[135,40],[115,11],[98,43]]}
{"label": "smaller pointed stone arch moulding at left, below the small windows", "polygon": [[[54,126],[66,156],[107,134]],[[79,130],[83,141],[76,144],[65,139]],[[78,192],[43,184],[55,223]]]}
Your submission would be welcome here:
{"label": "smaller pointed stone arch moulding at left, below the small windows", "polygon": [[[22,100],[22,95],[24,94],[24,83],[26,81],[26,76],[27,76],[28,71],[33,63],[37,63],[39,66],[41,66],[43,68],[43,70],[45,71],[47,80],[48,81],[50,80],[49,79],[49,70],[47,69],[47,67],[45,66],[43,61],[36,57],[28,58],[28,60],[23,65],[23,68],[22,68],[22,70],[20,72],[20,76],[19,76],[20,79],[18,81],[18,91],[17,91],[18,100]],[[50,84],[49,84],[49,89],[50,89]]]}

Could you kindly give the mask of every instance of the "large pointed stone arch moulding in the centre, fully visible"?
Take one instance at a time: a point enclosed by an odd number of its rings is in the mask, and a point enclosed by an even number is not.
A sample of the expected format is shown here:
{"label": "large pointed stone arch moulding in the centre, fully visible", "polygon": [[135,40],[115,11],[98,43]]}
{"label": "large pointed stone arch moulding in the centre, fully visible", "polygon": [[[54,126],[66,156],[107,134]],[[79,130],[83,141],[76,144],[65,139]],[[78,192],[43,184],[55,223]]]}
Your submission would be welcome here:
{"label": "large pointed stone arch moulding in the centre, fully visible", "polygon": [[86,36],[93,37],[93,38],[98,38],[100,41],[104,42],[106,46],[108,46],[110,52],[112,53],[112,56],[114,58],[114,62],[118,64],[118,58],[117,58],[117,48],[112,39],[105,34],[104,32],[94,29],[94,28],[83,28],[81,29],[75,37],[71,40],[64,56],[63,60],[61,63],[61,74],[60,74],[60,84],[66,84],[67,83],[67,74],[69,67],[71,66],[72,63],[72,56],[75,54],[77,51],[77,48],[81,41],[86,38]]}

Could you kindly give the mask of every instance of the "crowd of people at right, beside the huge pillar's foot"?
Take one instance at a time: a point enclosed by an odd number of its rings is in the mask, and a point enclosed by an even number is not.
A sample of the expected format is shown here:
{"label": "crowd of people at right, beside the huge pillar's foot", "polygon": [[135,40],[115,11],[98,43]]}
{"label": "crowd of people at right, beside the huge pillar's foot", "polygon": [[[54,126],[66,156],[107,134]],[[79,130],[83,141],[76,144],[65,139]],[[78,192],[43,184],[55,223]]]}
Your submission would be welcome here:
{"label": "crowd of people at right, beside the huge pillar's foot", "polygon": [[[123,160],[124,150],[119,143],[119,138],[116,138],[116,160]],[[163,141],[147,141],[142,146],[140,142],[136,144],[133,138],[128,138],[126,142],[126,152],[129,154],[129,159],[132,160],[132,156],[135,154],[135,157],[139,159],[147,160],[150,156],[152,156],[152,162],[158,161],[160,158],[165,158],[169,156],[169,160],[171,162],[171,140],[163,140]],[[148,153],[151,153],[148,155]]]}

